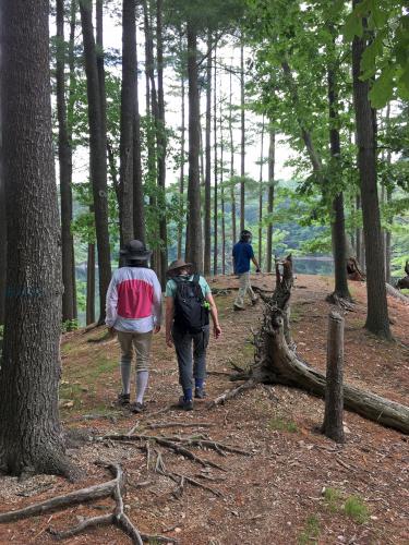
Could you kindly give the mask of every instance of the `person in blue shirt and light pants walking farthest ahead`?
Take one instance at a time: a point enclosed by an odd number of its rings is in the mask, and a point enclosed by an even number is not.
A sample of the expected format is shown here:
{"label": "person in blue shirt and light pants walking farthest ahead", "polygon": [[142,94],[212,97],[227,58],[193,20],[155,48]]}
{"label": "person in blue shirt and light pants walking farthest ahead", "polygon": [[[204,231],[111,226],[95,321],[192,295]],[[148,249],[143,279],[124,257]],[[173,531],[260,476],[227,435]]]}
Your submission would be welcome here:
{"label": "person in blue shirt and light pants walking farthest ahead", "polygon": [[246,229],[240,233],[240,241],[233,245],[233,269],[234,275],[239,276],[240,288],[236,298],[234,311],[244,311],[244,296],[249,294],[251,303],[254,305],[258,298],[254,293],[250,283],[250,261],[255,265],[255,271],[260,272],[260,265],[254,257],[253,246],[251,245],[252,234]]}

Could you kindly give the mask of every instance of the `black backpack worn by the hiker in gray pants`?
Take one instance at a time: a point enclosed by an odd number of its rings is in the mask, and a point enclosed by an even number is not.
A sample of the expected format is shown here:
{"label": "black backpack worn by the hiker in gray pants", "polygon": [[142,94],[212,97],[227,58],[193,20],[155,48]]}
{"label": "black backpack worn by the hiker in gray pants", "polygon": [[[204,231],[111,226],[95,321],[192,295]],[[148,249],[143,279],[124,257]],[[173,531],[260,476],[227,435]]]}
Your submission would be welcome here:
{"label": "black backpack worn by the hiker in gray pants", "polygon": [[199,275],[193,280],[173,278],[177,290],[175,294],[175,326],[181,334],[197,335],[208,325],[208,308]]}

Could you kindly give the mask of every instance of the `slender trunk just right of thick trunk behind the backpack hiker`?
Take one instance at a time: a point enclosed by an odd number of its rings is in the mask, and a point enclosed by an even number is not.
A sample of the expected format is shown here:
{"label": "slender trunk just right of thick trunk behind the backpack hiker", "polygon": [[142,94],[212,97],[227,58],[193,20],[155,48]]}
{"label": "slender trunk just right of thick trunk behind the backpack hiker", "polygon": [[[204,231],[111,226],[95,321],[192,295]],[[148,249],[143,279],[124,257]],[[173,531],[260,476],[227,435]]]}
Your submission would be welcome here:
{"label": "slender trunk just right of thick trunk behind the backpack hiker", "polygon": [[204,274],[210,274],[212,262],[212,32],[207,34],[206,126],[205,126],[205,202],[204,202]]}

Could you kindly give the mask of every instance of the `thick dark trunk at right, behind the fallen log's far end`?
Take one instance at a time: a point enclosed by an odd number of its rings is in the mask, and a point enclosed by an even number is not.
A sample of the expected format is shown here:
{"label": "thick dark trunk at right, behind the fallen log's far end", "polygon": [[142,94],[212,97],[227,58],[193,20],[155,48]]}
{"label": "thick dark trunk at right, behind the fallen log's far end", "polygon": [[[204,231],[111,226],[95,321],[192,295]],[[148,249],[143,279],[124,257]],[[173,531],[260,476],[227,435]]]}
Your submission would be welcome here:
{"label": "thick dark trunk at right, behind the fallen log's far end", "polygon": [[[359,5],[353,0],[353,7]],[[368,314],[365,328],[389,339],[389,318],[385,286],[385,261],[376,183],[376,134],[369,101],[369,82],[362,82],[361,59],[366,48],[364,37],[352,43],[353,101],[357,120],[358,167],[360,172],[363,234],[366,255]]]}

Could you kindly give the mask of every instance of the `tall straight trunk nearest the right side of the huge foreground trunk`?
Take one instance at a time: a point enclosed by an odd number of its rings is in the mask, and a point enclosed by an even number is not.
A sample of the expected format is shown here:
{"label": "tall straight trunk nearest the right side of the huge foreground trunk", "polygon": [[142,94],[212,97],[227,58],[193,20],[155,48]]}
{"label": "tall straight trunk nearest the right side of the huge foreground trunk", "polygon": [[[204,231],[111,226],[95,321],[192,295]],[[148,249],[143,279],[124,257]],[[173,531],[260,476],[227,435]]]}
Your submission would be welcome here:
{"label": "tall straight trunk nearest the right side of the huge foreground trunk", "polygon": [[58,157],[60,166],[61,194],[61,255],[62,255],[62,322],[76,317],[74,240],[71,233],[72,221],[72,149],[67,126],[65,109],[65,41],[64,2],[57,0],[57,117],[58,117]]}

